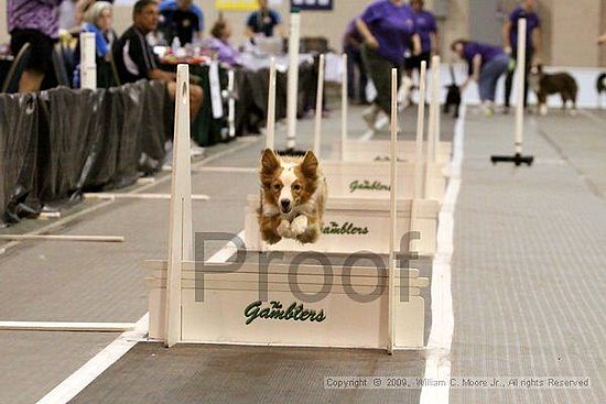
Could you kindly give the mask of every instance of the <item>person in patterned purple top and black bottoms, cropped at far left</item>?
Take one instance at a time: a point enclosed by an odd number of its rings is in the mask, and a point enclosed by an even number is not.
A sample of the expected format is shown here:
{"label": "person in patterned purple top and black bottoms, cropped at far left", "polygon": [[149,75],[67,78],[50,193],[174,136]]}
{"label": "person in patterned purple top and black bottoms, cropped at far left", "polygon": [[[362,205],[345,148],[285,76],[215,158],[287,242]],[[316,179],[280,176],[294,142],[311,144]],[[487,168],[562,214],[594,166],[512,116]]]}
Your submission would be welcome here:
{"label": "person in patterned purple top and black bottoms, cropped at far left", "polygon": [[11,52],[17,55],[29,43],[30,61],[19,81],[19,92],[39,91],[52,72],[54,43],[58,39],[58,10],[63,0],[8,0]]}

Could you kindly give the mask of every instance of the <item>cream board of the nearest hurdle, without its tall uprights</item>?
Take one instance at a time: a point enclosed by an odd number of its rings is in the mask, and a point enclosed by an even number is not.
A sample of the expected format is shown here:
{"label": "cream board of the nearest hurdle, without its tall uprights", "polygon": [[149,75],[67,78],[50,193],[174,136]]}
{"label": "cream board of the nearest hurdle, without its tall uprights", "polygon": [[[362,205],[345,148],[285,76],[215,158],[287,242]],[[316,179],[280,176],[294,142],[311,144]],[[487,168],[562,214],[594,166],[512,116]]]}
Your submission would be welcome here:
{"label": "cream board of the nearest hurdle, without its tall uprights", "polygon": [[[289,277],[290,263],[270,263],[264,284],[259,283],[257,263],[245,263],[227,273],[225,266],[183,263],[180,342],[375,349],[387,346],[387,266],[354,266],[348,272],[334,265],[332,273],[326,274],[323,266],[299,265],[295,284]],[[148,261],[144,267],[150,293],[150,338],[163,339],[166,261]],[[418,270],[397,271],[396,288],[401,296],[394,312],[396,349],[423,347],[425,307],[420,293],[428,286],[429,280],[420,277]],[[326,292],[321,294],[323,288]],[[260,301],[260,290],[267,291],[264,303]],[[351,298],[351,291],[358,299]],[[301,295],[323,298],[304,303]],[[271,302],[281,305],[283,318],[251,318],[257,307],[258,314],[263,308],[271,312],[277,306]],[[295,309],[302,306],[299,319],[286,318],[293,304]],[[310,310],[324,318],[310,320]]]}

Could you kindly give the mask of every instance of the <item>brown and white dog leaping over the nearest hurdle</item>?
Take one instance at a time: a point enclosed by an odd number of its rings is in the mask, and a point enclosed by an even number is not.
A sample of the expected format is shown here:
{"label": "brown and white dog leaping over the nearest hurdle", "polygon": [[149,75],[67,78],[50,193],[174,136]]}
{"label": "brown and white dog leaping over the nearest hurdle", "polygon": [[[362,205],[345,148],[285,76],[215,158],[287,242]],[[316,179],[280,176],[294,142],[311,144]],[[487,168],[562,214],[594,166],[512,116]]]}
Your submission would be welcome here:
{"label": "brown and white dog leaping over the nearest hurdle", "polygon": [[266,149],[259,175],[261,238],[270,244],[282,238],[315,242],[322,231],[327,186],[314,153],[290,157]]}

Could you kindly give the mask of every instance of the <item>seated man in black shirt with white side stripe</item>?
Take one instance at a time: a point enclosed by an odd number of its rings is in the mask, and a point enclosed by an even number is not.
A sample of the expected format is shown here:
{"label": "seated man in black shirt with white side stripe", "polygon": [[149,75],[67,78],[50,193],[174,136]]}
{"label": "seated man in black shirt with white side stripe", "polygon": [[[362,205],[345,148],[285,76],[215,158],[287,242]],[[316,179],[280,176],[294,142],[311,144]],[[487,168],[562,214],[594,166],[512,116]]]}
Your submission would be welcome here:
{"label": "seated man in black shirt with white side stripe", "polygon": [[[140,79],[167,81],[171,99],[175,99],[176,75],[161,70],[145,35],[158,28],[160,11],[158,1],[139,0],[132,11],[132,26],[118,40],[113,47],[113,58],[120,81],[133,83]],[[190,119],[194,120],[202,106],[202,88],[190,86]]]}

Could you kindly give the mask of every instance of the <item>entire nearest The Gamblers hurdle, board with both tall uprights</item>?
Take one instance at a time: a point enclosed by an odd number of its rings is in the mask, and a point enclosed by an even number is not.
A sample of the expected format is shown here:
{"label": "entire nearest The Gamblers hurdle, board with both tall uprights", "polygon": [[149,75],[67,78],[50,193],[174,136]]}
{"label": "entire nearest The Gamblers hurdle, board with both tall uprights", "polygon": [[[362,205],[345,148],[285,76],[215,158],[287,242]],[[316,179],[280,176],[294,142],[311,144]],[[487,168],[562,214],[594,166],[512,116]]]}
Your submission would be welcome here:
{"label": "entire nearest The Gamblers hurdle, board with both tall uprights", "polygon": [[[294,281],[295,263],[274,260],[264,271],[267,282],[260,284],[263,272],[258,262],[247,261],[237,270],[226,263],[194,262],[186,66],[178,66],[177,79],[169,259],[145,263],[150,338],[169,347],[201,342],[381,348],[390,353],[422,348],[425,317],[421,288],[429,281],[420,277],[418,270],[399,267],[394,260],[400,226],[394,215],[396,159],[390,178],[392,196],[386,201],[389,206],[382,208],[392,215],[386,223],[391,229],[386,242],[389,263],[350,269],[301,263],[295,266]],[[396,130],[392,137],[396,144]],[[264,298],[259,296],[261,290],[267,291]]]}

